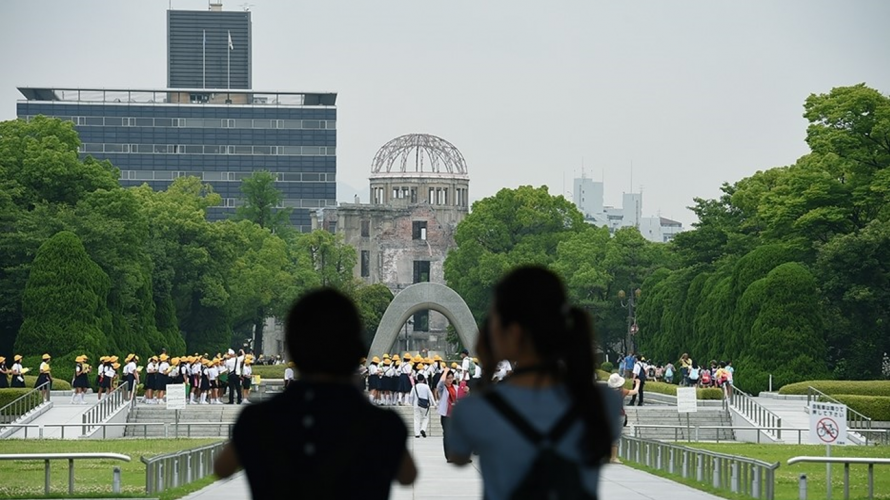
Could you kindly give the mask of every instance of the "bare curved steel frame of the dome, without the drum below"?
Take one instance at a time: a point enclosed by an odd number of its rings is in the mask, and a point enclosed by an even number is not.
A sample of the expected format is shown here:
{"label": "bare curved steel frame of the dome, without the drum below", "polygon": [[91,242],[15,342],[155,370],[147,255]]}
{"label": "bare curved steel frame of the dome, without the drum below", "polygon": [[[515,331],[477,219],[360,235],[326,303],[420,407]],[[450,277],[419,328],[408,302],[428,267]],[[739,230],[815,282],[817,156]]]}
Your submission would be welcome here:
{"label": "bare curved steel frame of the dome, without the drum below", "polygon": [[467,162],[454,144],[441,137],[407,134],[384,144],[371,162],[373,174],[398,172],[467,175]]}

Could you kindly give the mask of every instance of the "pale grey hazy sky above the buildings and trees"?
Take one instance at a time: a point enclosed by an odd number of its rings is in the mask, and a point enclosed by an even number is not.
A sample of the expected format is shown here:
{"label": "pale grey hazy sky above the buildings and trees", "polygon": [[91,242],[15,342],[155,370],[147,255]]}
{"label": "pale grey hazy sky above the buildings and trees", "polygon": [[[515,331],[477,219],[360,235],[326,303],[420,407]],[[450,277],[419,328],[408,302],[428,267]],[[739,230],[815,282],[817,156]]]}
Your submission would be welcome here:
{"label": "pale grey hazy sky above the buildings and trees", "polygon": [[[693,197],[806,153],[810,93],[890,93],[885,0],[250,4],[254,88],[339,93],[341,201],[367,201],[381,145],[424,132],[463,152],[472,200],[522,184],[570,198],[583,159],[607,204],[642,186],[644,215],[688,225]],[[16,86],[165,87],[167,8],[0,1],[0,119]]]}

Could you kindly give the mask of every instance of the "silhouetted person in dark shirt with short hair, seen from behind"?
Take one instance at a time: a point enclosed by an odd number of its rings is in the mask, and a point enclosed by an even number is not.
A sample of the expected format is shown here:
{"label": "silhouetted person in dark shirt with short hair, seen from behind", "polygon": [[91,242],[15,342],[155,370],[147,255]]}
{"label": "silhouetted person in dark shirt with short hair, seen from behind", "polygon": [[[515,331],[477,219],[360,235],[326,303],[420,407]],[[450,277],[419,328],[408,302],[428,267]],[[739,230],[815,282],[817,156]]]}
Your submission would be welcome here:
{"label": "silhouetted person in dark shirt with short hair, seen from behind", "polygon": [[300,380],[244,408],[216,459],[216,475],[243,467],[256,499],[386,499],[393,480],[413,483],[405,424],[356,387],[365,349],[353,303],[335,290],[309,292],[285,328]]}

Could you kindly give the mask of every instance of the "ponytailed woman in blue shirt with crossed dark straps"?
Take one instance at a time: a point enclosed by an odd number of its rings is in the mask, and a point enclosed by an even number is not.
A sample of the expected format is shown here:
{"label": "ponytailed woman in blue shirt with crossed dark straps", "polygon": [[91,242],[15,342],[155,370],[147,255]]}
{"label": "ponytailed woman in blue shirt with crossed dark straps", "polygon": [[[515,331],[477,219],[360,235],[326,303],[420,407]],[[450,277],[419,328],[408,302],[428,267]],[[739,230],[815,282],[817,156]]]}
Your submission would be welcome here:
{"label": "ponytailed woman in blue shirt with crossed dark straps", "polygon": [[[486,500],[596,497],[599,466],[621,431],[617,395],[594,381],[594,336],[552,272],[522,267],[495,287],[485,338],[513,374],[458,403],[449,461],[479,456]],[[487,343],[487,344],[486,344]],[[515,497],[514,497],[515,498]]]}

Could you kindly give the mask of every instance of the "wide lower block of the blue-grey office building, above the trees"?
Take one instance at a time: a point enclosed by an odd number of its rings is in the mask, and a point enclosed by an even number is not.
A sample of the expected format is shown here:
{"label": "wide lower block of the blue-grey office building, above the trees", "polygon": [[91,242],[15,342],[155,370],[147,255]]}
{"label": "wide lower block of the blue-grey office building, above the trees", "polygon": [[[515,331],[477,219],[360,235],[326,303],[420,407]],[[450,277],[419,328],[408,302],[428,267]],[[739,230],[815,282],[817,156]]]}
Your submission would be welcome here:
{"label": "wide lower block of the blue-grey office building, above the trees", "polygon": [[70,120],[81,154],[107,159],[123,186],[163,190],[197,176],[223,198],[208,218],[233,214],[241,180],[277,176],[291,222],[311,229],[309,211],[336,206],[337,95],[250,90],[19,88],[21,119]]}

